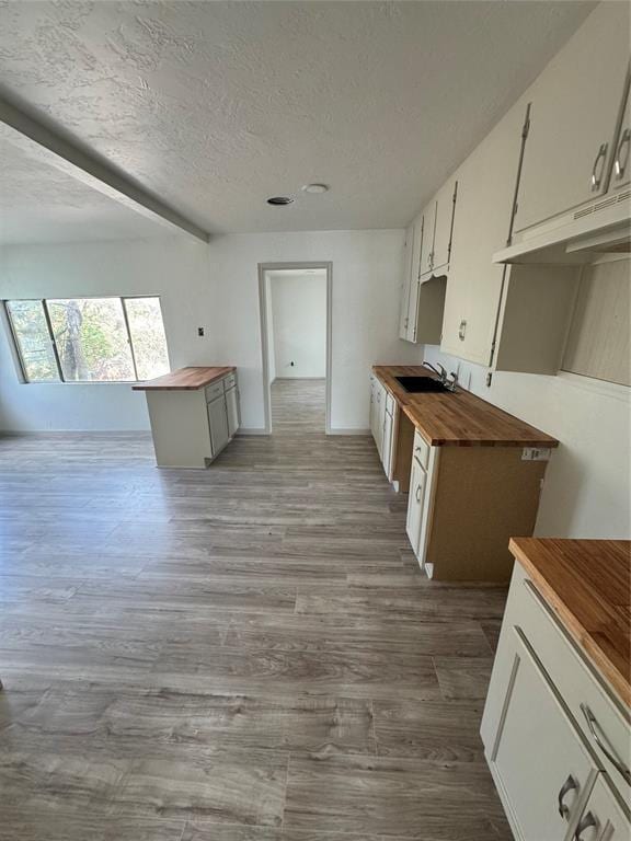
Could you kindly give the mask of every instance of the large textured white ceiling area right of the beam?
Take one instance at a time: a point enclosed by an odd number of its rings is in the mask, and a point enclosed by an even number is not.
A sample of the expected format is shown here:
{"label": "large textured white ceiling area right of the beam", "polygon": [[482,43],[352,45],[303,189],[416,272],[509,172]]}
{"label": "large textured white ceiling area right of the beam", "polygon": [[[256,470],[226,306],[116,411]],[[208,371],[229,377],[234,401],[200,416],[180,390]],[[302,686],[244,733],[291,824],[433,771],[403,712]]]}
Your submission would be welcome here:
{"label": "large textured white ceiling area right of the beam", "polygon": [[210,232],[401,227],[593,5],[0,0],[0,93]]}

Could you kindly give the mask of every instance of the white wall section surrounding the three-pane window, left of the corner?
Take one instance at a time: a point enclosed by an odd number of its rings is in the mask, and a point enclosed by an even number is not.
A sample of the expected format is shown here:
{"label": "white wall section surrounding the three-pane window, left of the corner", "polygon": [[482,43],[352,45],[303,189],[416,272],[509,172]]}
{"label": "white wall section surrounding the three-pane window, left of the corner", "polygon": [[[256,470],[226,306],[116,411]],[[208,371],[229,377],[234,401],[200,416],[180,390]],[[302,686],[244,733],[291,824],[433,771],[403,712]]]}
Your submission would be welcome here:
{"label": "white wall section surrounding the three-pane window, left of the corner", "polygon": [[[208,253],[181,238],[0,251],[0,298],[160,295],[171,365],[223,361],[210,330]],[[197,326],[206,327],[204,338]],[[148,429],[145,395],[117,383],[19,382],[0,325],[0,429]]]}

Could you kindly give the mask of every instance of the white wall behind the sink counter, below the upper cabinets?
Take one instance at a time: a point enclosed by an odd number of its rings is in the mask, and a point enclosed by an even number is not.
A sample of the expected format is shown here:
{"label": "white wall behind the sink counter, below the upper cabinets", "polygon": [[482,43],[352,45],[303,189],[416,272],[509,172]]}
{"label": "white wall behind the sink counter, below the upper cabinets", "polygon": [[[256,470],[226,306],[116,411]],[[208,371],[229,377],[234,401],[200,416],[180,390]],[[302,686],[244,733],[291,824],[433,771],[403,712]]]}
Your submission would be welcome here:
{"label": "white wall behind the sink counter, below the upper cabinets", "polygon": [[507,372],[495,372],[486,388],[486,368],[436,346],[425,347],[425,354],[450,371],[459,367],[460,381],[474,394],[561,441],[546,472],[537,535],[631,537],[628,388],[571,373]]}

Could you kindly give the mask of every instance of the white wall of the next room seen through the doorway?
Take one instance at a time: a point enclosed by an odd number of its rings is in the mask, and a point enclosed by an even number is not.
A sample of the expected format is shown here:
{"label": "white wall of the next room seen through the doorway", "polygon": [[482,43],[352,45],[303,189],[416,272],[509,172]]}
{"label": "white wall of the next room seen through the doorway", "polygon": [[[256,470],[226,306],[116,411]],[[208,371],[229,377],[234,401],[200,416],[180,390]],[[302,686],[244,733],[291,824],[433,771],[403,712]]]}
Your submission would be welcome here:
{"label": "white wall of the next room seen through the doorway", "polygon": [[326,272],[269,273],[269,279],[274,377],[326,377]]}

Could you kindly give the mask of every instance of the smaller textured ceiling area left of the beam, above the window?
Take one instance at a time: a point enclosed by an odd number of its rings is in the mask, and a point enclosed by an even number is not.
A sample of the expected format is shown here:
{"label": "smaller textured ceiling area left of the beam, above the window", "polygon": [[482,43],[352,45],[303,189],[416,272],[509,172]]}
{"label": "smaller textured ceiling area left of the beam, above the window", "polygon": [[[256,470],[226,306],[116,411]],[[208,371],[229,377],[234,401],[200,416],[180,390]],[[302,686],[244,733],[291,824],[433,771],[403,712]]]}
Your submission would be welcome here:
{"label": "smaller textured ceiling area left of the beam, above the window", "polygon": [[0,243],[157,237],[164,228],[0,140]]}

